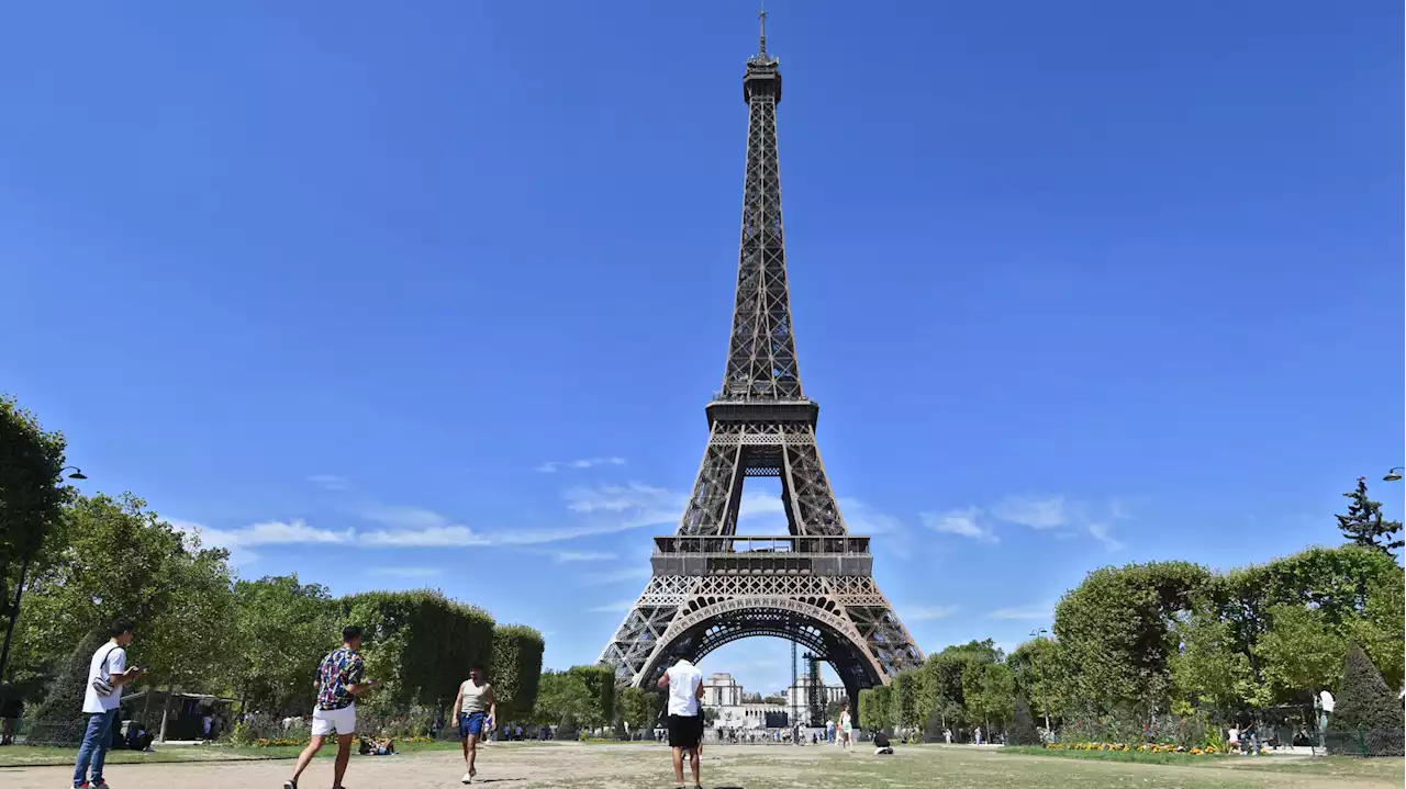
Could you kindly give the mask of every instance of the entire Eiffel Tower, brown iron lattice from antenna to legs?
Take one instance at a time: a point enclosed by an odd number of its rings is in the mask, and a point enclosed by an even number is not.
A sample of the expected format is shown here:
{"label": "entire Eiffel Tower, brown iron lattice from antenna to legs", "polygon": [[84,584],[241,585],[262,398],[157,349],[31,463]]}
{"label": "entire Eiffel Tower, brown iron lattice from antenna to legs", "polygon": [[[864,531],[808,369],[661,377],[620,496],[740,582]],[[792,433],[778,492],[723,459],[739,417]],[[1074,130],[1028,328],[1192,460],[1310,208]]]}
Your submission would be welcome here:
{"label": "entire Eiffel Tower, brown iron lattice from antenna to legs", "polygon": [[[922,653],[875,584],[869,538],[845,526],[815,446],[820,406],[801,393],[776,163],[782,74],[761,18],[742,77],[747,181],[723,390],[707,404],[709,442],[678,532],[655,538],[652,577],[600,663],[621,684],[651,687],[676,650],[697,661],[778,636],[830,663],[858,699]],[[747,477],[780,479],[790,536],[737,533]]]}

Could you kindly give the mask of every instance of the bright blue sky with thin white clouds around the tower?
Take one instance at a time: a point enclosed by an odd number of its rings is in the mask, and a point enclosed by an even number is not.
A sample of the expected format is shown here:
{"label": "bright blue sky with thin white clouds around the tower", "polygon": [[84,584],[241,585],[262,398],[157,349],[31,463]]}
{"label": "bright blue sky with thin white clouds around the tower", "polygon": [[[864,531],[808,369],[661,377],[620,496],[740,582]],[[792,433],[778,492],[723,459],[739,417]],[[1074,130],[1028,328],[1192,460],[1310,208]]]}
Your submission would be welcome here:
{"label": "bright blue sky with thin white clouds around the tower", "polygon": [[[801,375],[927,650],[1107,563],[1334,542],[1360,475],[1406,515],[1406,6],[770,6]],[[755,31],[13,4],[0,389],[242,574],[434,585],[591,661],[702,455]]]}

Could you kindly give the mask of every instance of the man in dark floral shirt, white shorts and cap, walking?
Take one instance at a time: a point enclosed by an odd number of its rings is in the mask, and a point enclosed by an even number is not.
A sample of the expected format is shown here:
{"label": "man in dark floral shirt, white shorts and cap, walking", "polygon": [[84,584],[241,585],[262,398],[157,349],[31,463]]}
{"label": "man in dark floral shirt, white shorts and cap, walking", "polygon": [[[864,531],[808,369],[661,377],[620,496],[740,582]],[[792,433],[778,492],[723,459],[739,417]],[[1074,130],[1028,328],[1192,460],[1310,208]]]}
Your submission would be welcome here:
{"label": "man in dark floral shirt, white shorts and cap, walking", "polygon": [[352,758],[352,737],[356,734],[356,698],[380,685],[375,679],[366,678],[360,650],[361,628],[347,625],[342,628],[342,649],[333,650],[318,665],[318,678],[312,682],[318,691],[318,703],[312,710],[312,741],[298,757],[292,779],[285,781],[283,789],[298,789],[298,776],[308,768],[312,757],[318,755],[322,743],[333,730],[337,736],[337,758],[333,765],[332,786],[342,786],[347,760]]}

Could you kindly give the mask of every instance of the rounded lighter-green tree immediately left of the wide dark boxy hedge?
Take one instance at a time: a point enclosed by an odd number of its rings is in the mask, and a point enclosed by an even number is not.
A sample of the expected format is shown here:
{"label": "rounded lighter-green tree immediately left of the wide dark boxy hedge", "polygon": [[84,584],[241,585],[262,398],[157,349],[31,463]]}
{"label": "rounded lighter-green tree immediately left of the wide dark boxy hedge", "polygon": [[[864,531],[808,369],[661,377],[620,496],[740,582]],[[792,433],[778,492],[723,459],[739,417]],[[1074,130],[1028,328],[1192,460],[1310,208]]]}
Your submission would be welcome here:
{"label": "rounded lighter-green tree immediately left of the wide dark boxy hedge", "polygon": [[239,581],[233,597],[235,692],[259,712],[311,713],[318,663],[340,642],[337,604],[297,574]]}

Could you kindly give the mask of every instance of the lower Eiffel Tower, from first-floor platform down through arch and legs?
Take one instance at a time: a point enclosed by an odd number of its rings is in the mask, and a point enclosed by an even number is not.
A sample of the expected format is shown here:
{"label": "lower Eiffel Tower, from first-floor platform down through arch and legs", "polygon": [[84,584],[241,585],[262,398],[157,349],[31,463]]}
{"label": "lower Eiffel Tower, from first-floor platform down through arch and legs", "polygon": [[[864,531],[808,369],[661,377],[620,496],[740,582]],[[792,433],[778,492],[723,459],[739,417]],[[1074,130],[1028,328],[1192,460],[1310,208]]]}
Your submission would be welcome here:
{"label": "lower Eiffel Tower, from first-floor platform down through arch and legs", "polygon": [[679,656],[776,636],[839,675],[849,698],[922,663],[872,576],[868,536],[661,536],[654,574],[600,663],[650,688]]}

